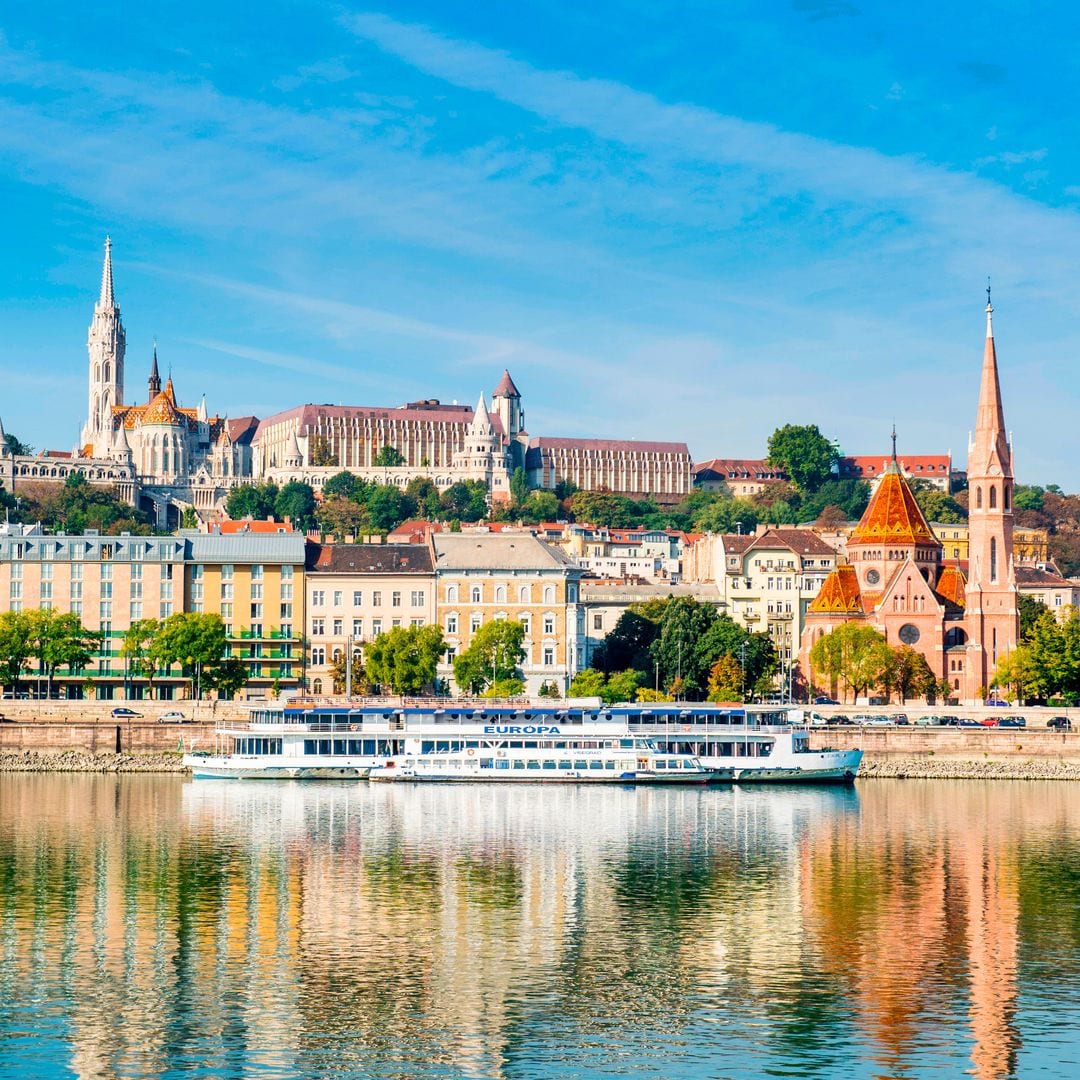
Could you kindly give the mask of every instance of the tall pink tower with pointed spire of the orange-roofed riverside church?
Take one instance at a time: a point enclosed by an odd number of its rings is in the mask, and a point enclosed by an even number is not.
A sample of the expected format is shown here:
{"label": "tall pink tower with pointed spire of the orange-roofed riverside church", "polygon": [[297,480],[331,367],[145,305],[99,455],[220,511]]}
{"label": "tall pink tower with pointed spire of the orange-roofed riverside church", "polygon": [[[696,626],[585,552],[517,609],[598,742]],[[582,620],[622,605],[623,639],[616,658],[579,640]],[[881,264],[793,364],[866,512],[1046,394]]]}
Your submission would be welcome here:
{"label": "tall pink tower with pointed spire of the orange-roofed riverside church", "polygon": [[978,388],[975,435],[968,447],[969,565],[964,626],[968,632],[966,694],[975,700],[998,661],[1016,647],[1020,619],[1013,572],[1013,463],[1005,434],[994,308],[987,289],[986,345]]}

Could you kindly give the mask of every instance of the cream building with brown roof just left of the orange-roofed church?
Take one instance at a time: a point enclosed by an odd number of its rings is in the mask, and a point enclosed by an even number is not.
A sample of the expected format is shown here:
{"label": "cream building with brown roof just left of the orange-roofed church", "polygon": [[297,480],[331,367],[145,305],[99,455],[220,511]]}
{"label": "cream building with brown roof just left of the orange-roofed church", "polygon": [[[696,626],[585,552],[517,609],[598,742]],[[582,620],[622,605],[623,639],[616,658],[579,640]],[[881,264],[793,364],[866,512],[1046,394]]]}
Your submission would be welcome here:
{"label": "cream building with brown roof just left of the orange-roofed church", "polygon": [[810,529],[775,528],[752,536],[708,534],[684,555],[684,581],[716,586],[721,610],[768,634],[781,664],[798,652],[810,602],[837,564],[836,551]]}

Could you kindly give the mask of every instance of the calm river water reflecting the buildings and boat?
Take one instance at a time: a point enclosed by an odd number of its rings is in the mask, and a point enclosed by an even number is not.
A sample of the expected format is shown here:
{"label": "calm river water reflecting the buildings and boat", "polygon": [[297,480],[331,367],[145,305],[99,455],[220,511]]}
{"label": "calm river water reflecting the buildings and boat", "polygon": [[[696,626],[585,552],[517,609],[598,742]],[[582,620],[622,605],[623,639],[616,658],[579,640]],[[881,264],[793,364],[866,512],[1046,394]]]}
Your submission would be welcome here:
{"label": "calm river water reflecting the buildings and boat", "polygon": [[0,1078],[1080,1075],[1080,788],[0,774]]}

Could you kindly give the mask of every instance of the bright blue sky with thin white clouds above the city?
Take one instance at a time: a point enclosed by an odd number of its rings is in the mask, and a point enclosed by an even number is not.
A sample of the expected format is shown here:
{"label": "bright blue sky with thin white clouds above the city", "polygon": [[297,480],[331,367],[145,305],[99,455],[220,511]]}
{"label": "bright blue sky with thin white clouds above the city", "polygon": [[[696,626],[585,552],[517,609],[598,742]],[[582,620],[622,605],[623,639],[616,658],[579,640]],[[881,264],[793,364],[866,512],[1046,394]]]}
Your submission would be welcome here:
{"label": "bright blue sky with thin white clouds above the city", "polygon": [[1018,476],[1080,488],[1080,13],[859,0],[67,2],[0,23],[0,419],[475,401],[534,434],[951,450],[984,287]]}

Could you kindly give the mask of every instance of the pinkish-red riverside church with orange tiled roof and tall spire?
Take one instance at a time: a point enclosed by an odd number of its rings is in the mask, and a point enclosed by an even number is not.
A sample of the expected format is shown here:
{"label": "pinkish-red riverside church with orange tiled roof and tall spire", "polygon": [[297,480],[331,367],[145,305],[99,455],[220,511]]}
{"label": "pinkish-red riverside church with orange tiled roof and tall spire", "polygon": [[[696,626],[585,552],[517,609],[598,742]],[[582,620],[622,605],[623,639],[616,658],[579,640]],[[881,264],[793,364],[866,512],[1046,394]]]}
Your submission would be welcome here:
{"label": "pinkish-red riverside church with orange tiled roof and tall spire", "polygon": [[807,611],[799,652],[854,620],[874,626],[890,645],[918,649],[953,696],[980,700],[1001,657],[1020,632],[1012,559],[1012,447],[1005,434],[994,309],[986,305],[986,346],[975,435],[968,447],[970,546],[967,576],[945,565],[942,544],[892,461],[848,540],[848,562],[834,570]]}

